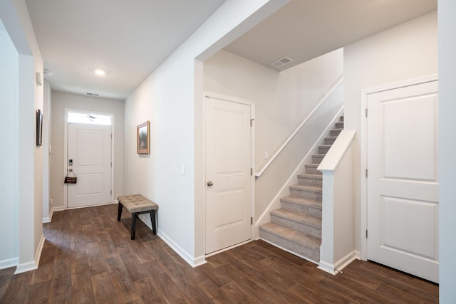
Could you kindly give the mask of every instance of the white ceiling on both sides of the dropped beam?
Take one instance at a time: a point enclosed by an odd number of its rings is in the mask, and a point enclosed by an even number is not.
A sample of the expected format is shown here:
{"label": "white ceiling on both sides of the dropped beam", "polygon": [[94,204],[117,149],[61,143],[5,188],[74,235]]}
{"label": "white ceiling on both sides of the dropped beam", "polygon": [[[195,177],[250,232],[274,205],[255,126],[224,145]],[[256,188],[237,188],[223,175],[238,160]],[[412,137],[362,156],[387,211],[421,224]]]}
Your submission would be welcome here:
{"label": "white ceiling on both sides of the dropped beam", "polygon": [[[125,100],[224,1],[26,4],[52,90]],[[293,59],[284,70],[436,9],[437,0],[292,0],[225,49],[269,68]]]}

